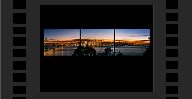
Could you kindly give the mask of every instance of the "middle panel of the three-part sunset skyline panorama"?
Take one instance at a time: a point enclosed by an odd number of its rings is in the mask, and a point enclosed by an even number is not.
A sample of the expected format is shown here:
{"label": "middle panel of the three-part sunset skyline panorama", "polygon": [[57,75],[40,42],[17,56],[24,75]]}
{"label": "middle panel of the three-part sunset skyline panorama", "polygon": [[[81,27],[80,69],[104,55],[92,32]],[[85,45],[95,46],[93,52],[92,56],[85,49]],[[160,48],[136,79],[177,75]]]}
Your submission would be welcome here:
{"label": "middle panel of the three-part sunset skyline panorama", "polygon": [[114,56],[114,29],[82,29],[81,36],[85,56]]}

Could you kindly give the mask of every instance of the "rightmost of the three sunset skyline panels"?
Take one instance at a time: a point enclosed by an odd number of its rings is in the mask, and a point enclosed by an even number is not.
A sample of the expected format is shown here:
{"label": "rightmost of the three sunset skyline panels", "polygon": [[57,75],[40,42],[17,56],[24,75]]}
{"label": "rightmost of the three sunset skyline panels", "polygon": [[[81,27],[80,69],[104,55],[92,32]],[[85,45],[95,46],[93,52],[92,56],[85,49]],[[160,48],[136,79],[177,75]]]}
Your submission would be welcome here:
{"label": "rightmost of the three sunset skyline panels", "polygon": [[115,54],[117,56],[147,56],[150,29],[116,29]]}

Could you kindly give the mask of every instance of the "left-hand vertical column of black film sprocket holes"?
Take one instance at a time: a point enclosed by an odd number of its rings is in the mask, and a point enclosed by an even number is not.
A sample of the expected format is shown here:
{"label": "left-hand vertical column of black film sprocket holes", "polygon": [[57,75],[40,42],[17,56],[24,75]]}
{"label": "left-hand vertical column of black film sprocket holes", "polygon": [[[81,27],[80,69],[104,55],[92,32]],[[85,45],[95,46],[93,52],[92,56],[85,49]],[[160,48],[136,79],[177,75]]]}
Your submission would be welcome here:
{"label": "left-hand vertical column of black film sprocket holes", "polygon": [[13,99],[26,99],[26,0],[13,0]]}

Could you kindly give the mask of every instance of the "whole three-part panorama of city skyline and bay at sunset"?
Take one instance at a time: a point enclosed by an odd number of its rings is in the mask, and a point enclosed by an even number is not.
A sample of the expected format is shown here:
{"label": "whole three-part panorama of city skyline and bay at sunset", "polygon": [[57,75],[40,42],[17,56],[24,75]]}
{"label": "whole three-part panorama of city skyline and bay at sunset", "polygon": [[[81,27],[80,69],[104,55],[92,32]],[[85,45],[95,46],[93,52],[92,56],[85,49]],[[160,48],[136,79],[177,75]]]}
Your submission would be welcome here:
{"label": "whole three-part panorama of city skyline and bay at sunset", "polygon": [[44,30],[45,56],[142,56],[149,44],[150,29]]}

